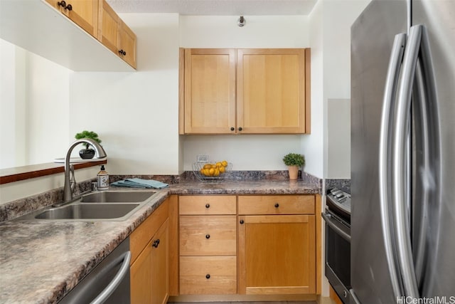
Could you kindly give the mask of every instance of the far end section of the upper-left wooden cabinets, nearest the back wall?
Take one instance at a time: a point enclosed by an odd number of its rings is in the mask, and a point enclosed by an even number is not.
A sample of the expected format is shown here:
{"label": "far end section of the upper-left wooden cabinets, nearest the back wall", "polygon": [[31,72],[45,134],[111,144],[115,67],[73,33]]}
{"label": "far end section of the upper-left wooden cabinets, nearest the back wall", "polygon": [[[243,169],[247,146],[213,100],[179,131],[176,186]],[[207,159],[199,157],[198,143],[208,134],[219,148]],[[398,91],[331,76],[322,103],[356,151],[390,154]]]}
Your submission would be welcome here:
{"label": "far end section of the upper-left wooden cabinets, nearest the back wall", "polygon": [[98,28],[101,43],[136,68],[136,35],[105,0],[100,0]]}

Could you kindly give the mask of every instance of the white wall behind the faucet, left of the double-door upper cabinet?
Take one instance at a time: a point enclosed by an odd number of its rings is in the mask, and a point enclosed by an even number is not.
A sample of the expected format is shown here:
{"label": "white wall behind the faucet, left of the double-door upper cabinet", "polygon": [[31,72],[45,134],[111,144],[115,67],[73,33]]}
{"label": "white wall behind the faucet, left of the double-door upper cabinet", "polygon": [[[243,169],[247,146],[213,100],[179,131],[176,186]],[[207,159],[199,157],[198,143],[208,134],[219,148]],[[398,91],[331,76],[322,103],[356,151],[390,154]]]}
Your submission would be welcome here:
{"label": "white wall behind the faucet, left of the double-door upper cabinet", "polygon": [[98,133],[110,174],[178,174],[178,14],[122,14],[137,72],[73,73],[70,135]]}

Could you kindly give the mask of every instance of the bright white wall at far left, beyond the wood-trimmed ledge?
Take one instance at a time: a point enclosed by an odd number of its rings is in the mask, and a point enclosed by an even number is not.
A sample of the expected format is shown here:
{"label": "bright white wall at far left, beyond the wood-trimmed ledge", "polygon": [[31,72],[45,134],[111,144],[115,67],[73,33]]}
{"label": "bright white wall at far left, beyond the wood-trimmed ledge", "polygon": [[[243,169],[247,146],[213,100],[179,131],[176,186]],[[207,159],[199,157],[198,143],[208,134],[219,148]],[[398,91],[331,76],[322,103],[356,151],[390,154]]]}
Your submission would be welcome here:
{"label": "bright white wall at far left, beyond the wood-trimmed ledge", "polygon": [[71,71],[3,40],[0,51],[0,168],[63,157]]}

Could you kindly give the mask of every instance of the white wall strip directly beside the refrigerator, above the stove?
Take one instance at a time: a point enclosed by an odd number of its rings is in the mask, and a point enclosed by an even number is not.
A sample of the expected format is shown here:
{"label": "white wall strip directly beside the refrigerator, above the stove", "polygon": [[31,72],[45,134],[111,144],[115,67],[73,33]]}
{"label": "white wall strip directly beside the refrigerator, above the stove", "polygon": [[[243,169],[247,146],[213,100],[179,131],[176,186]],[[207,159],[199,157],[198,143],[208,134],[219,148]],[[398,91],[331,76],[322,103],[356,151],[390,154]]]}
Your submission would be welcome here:
{"label": "white wall strip directly beside the refrigerator, above the stove", "polygon": [[350,179],[350,26],[369,2],[323,1],[323,176],[328,179]]}

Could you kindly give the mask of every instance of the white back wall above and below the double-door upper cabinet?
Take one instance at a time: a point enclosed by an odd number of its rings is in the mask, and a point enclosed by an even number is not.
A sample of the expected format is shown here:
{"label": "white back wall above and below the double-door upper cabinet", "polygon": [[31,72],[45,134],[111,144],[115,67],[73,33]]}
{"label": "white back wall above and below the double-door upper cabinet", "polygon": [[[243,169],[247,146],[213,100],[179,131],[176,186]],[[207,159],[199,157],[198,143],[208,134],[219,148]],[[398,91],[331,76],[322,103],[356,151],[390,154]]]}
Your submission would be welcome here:
{"label": "white back wall above and below the double-door upper cabinet", "polygon": [[[306,16],[181,16],[180,46],[183,48],[305,48],[309,47]],[[282,158],[301,153],[300,139],[309,135],[184,135],[183,169],[191,170],[196,155],[212,160],[227,159],[235,170],[284,170]],[[306,159],[311,163],[312,159]]]}

